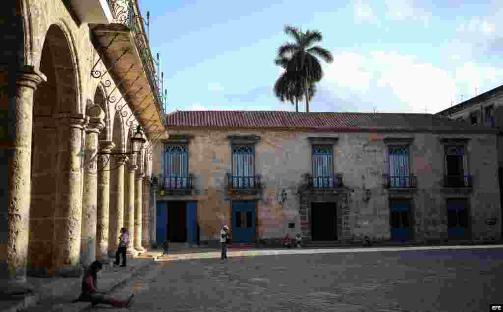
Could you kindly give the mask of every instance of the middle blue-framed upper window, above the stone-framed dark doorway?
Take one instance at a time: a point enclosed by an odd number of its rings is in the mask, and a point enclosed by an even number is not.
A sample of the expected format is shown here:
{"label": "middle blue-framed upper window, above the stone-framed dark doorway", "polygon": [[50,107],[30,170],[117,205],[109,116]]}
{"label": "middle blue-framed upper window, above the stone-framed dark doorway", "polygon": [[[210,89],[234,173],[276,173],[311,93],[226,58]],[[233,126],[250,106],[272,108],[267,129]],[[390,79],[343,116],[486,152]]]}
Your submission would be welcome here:
{"label": "middle blue-framed upper window, above the stone-framed dark doorway", "polygon": [[333,147],[332,145],[313,145],[312,168],[315,188],[333,187]]}

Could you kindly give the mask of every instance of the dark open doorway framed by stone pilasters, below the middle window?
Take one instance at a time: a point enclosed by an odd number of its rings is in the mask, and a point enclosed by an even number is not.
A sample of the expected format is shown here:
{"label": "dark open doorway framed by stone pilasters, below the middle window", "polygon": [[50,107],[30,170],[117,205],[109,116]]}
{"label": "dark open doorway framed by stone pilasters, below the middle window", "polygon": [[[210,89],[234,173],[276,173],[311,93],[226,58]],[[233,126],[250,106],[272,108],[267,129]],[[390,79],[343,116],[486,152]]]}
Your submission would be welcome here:
{"label": "dark open doorway framed by stone pilasters, below the middle window", "polygon": [[311,203],[313,241],[337,241],[337,203]]}

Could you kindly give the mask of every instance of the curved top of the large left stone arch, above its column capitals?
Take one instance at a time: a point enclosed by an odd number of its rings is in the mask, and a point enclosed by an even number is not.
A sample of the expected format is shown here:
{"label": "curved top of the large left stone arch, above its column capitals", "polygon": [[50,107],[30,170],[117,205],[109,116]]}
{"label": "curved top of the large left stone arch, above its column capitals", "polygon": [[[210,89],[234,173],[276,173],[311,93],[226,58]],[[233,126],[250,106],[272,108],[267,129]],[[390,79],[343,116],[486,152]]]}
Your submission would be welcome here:
{"label": "curved top of the large left stone arch, above its column capitals", "polygon": [[[59,32],[55,36],[55,32]],[[80,84],[80,67],[78,66],[78,56],[75,48],[75,40],[63,20],[58,20],[50,24],[45,35],[41,37],[44,42],[37,67],[44,72],[42,68],[42,58],[44,49],[49,45],[51,53],[57,55],[55,59],[58,70],[58,79],[61,81],[61,88],[65,96],[60,98],[58,103],[62,112],[71,114],[85,114],[85,105],[82,103],[82,88]],[[45,73],[45,72],[44,72]],[[64,84],[63,84],[64,83]]]}

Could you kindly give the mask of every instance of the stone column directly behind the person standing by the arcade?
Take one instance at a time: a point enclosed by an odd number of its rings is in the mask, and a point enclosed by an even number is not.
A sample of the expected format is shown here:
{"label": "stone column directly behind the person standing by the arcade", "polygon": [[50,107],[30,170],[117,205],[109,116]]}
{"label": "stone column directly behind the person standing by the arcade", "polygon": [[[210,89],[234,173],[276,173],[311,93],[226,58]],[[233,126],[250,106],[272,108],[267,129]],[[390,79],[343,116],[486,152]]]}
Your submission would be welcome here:
{"label": "stone column directly behind the person standing by the arcade", "polygon": [[124,227],[124,172],[128,158],[123,157],[116,161],[115,184],[110,189],[110,218],[108,236],[108,255],[115,258],[119,245],[121,228]]}

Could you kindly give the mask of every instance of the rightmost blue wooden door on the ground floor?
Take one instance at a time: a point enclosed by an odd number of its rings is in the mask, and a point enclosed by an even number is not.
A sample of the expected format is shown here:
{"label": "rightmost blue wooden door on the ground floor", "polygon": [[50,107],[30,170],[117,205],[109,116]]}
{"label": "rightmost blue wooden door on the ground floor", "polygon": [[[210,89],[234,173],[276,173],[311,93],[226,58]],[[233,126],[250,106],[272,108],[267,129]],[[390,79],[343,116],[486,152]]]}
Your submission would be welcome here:
{"label": "rightmost blue wooden door on the ground floor", "polygon": [[468,236],[468,200],[456,198],[447,200],[447,235],[459,240]]}

